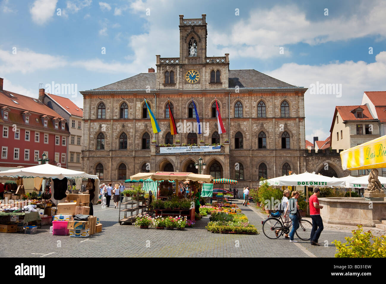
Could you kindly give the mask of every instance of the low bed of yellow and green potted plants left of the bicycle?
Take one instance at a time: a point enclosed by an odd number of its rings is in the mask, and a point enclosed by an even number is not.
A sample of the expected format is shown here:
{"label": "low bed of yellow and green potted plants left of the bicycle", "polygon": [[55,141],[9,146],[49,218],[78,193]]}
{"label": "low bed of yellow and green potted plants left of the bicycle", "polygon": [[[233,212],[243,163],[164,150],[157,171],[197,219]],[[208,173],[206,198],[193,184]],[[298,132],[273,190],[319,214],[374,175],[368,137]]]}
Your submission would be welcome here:
{"label": "low bed of yellow and green potted plants left of the bicycle", "polygon": [[209,220],[205,228],[212,233],[258,234],[236,204],[216,203]]}

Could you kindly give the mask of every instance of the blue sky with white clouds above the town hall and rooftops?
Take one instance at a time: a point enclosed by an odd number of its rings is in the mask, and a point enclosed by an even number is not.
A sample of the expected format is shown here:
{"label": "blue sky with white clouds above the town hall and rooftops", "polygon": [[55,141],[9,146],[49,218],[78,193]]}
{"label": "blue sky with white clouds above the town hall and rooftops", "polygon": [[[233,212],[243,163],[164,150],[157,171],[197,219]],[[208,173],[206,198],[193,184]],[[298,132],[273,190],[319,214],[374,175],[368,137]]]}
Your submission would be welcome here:
{"label": "blue sky with white clouds above the town hall and rooftops", "polygon": [[207,15],[207,55],[229,53],[230,69],[342,84],[338,97],[305,93],[306,139],[329,136],[335,105],[386,90],[386,1],[376,0],[0,0],[4,89],[37,97],[39,83],[80,91],[147,72],[156,54],[179,56],[180,14]]}

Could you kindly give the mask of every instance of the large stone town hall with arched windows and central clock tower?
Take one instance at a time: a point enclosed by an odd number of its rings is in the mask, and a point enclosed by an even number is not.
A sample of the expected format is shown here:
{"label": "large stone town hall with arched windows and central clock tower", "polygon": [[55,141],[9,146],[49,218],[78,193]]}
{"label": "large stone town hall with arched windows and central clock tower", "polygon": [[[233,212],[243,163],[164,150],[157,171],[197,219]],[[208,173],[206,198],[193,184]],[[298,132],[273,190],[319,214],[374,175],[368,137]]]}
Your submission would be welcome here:
{"label": "large stone town hall with arched windows and central clock tower", "polygon": [[[179,16],[179,56],[156,55],[156,69],[82,91],[82,170],[118,182],[138,172],[175,171],[237,179],[256,187],[259,178],[306,170],[304,93],[254,69],[229,70],[232,55],[207,56],[206,15]],[[144,97],[159,124],[154,134]],[[203,133],[179,129],[196,122]],[[216,99],[225,133],[218,133]],[[189,129],[191,131],[191,129]],[[154,141],[154,142],[153,142]],[[161,153],[161,144],[222,145],[220,151]],[[162,145],[161,145],[162,146]],[[196,168],[195,163],[205,163]]]}

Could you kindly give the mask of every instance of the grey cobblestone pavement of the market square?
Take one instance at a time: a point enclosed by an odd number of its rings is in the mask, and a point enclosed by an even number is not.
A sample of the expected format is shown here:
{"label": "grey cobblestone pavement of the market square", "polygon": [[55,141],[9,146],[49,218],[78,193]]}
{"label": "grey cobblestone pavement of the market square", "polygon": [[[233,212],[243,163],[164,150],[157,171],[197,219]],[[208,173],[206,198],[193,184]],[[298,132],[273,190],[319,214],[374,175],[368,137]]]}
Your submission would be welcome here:
{"label": "grey cobblestone pavement of the market square", "polygon": [[[236,203],[241,205],[240,201]],[[262,233],[261,221],[266,215],[251,206],[240,206],[259,235],[213,234],[205,229],[209,216],[184,231],[140,229],[119,225],[118,209],[94,206],[102,232],[88,238],[70,238],[49,234],[49,225],[35,235],[0,233],[0,257],[333,257],[331,241],[344,241],[351,235],[338,228],[323,230],[319,242],[328,247],[315,247],[308,241],[289,243],[284,236],[270,240]],[[295,235],[296,238],[296,235]],[[239,246],[237,246],[239,244]]]}

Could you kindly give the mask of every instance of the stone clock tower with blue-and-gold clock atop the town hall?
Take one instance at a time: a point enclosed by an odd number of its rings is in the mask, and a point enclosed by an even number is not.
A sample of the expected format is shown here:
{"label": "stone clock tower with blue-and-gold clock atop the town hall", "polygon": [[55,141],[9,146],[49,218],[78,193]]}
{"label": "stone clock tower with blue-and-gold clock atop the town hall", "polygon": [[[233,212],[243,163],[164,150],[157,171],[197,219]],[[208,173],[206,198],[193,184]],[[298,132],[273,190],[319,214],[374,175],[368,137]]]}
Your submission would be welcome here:
{"label": "stone clock tower with blue-and-gold clock atop the town hall", "polygon": [[157,88],[174,90],[228,88],[229,54],[207,57],[206,15],[179,15],[179,58],[157,55]]}

